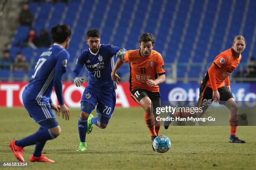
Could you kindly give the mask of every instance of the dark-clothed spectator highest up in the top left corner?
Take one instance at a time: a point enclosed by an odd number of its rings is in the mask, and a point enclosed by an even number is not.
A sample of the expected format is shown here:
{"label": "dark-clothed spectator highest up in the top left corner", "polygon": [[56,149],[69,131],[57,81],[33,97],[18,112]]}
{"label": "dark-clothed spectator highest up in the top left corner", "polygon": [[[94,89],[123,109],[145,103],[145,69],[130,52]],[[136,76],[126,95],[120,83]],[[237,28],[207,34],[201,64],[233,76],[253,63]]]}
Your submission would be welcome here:
{"label": "dark-clothed spectator highest up in the top left corner", "polygon": [[28,25],[31,26],[33,23],[34,15],[33,13],[28,9],[28,3],[24,3],[22,5],[22,9],[20,11],[19,15],[19,22],[20,25]]}

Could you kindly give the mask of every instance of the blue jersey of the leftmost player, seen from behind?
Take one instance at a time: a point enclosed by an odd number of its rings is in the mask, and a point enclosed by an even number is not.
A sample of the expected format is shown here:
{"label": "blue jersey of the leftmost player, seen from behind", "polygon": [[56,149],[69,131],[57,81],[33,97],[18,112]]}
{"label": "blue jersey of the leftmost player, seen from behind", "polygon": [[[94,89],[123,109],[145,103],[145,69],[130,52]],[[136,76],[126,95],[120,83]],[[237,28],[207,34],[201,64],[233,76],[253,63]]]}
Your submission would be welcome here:
{"label": "blue jersey of the leftmost player, seen from behind", "polygon": [[[24,90],[26,94],[29,94],[26,95],[26,100],[49,101],[54,86],[53,79],[60,76],[59,82],[61,82],[62,74],[67,71],[68,60],[69,53],[61,45],[54,44],[44,51],[36,63],[32,79]],[[58,72],[62,74],[57,74]],[[62,91],[61,97],[59,96],[57,95],[58,100],[62,98]]]}

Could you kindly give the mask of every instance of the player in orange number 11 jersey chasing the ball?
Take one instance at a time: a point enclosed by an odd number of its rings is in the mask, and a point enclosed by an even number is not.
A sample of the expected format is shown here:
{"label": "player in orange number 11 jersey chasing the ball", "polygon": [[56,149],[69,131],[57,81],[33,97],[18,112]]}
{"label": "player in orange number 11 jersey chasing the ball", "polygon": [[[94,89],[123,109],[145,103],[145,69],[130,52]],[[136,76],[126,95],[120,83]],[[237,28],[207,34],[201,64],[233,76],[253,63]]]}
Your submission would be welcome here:
{"label": "player in orange number 11 jersey chasing the ball", "polygon": [[155,50],[154,36],[151,33],[141,35],[140,49],[128,50],[125,55],[119,57],[111,73],[114,81],[120,77],[116,71],[124,62],[130,62],[130,91],[133,99],[144,109],[144,119],[151,133],[153,141],[159,135],[160,122],[155,120],[156,107],[160,107],[159,84],[165,81],[164,60],[161,54]]}

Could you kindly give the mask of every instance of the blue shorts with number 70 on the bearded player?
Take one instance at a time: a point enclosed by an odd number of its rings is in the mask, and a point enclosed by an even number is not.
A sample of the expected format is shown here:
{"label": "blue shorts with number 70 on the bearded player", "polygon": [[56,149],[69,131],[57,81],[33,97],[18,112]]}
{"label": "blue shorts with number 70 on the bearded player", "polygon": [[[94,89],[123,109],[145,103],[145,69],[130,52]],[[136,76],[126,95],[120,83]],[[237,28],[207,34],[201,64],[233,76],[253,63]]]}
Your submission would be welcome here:
{"label": "blue shorts with number 70 on the bearded player", "polygon": [[[97,114],[111,118],[115,109],[115,90],[113,91],[96,91],[86,87],[82,95],[81,104],[83,101],[90,102],[94,108],[97,106]],[[89,114],[92,110],[82,110]]]}

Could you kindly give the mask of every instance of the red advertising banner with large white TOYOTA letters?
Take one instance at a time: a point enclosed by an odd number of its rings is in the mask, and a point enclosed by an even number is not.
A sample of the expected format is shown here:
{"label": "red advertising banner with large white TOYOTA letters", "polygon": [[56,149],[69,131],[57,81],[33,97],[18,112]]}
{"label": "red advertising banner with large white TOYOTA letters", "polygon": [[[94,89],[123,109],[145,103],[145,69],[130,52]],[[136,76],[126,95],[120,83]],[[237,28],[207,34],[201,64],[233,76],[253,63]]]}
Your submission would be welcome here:
{"label": "red advertising banner with large white TOYOTA letters", "polygon": [[[23,106],[22,92],[27,84],[28,82],[0,82],[0,106]],[[80,107],[80,100],[86,86],[87,83],[84,83],[82,87],[76,87],[73,82],[63,82],[63,97],[66,105],[69,107]],[[116,106],[139,106],[131,98],[129,83],[119,83],[116,95]],[[54,91],[51,95],[51,99],[54,103],[58,102]]]}

